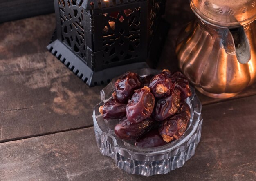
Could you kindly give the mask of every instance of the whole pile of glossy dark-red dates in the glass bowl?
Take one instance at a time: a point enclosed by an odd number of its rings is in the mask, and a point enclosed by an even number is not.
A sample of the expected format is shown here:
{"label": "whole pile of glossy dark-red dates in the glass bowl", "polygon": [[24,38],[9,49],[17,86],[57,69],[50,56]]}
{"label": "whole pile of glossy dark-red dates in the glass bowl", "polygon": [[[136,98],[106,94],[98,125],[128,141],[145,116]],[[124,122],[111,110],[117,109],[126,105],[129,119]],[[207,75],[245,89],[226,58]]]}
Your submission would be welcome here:
{"label": "whole pile of glossy dark-red dates in the glass bowl", "polygon": [[139,77],[128,72],[115,82],[112,99],[100,106],[104,119],[120,119],[115,134],[140,147],[156,147],[179,139],[190,120],[185,99],[189,81],[180,72],[163,70]]}

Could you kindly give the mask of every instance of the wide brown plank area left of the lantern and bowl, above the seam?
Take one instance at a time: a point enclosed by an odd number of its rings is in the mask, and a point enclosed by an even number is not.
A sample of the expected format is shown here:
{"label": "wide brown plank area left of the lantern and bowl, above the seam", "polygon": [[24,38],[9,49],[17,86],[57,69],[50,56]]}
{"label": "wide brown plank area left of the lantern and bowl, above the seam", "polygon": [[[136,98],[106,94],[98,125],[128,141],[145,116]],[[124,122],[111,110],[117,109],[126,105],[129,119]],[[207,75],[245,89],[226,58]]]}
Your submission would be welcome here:
{"label": "wide brown plank area left of the lantern and bowl, above the seam", "polygon": [[92,126],[103,86],[88,88],[47,51],[54,24],[46,15],[0,25],[0,142]]}

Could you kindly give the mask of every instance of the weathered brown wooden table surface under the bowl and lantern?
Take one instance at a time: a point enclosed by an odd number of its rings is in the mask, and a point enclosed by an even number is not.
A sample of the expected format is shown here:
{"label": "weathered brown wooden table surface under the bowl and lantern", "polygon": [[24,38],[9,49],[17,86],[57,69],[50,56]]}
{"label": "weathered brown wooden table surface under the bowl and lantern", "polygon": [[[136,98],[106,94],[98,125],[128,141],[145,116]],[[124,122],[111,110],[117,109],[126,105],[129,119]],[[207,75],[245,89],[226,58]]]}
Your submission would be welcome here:
{"label": "weathered brown wooden table surface under the bowl and lantern", "polygon": [[[167,3],[171,29],[158,68],[177,70],[175,40],[193,19],[185,1]],[[54,14],[0,24],[0,180],[256,180],[256,84],[232,99],[198,93],[202,138],[182,168],[130,175],[97,149],[89,88],[45,48]]]}

